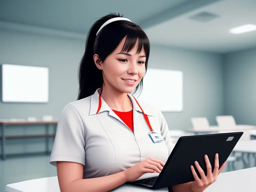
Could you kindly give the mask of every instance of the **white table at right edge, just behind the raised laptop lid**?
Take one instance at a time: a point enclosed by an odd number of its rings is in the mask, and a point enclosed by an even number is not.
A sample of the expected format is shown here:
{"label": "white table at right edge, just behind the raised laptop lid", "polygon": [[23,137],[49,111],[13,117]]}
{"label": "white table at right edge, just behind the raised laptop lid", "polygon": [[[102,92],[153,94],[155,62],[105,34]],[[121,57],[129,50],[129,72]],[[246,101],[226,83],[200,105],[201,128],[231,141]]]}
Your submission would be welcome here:
{"label": "white table at right edge, just behind the raised laptop lid", "polygon": [[[242,153],[244,168],[249,168],[249,158],[250,156],[254,157],[256,167],[256,140],[238,141],[232,153],[234,156],[236,156],[236,153]],[[245,155],[247,156],[247,160],[244,158]]]}

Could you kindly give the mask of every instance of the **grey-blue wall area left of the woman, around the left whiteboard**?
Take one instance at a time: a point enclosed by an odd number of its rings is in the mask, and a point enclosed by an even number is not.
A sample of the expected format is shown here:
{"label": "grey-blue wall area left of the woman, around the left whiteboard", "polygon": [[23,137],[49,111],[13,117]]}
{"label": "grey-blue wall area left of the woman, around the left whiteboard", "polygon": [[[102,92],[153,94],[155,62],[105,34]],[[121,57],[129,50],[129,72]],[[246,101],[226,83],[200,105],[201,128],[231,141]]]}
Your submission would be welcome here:
{"label": "grey-blue wall area left of the woman, around the left whiteboard", "polygon": [[58,118],[64,106],[77,97],[77,68],[85,42],[1,30],[0,44],[0,63],[49,68],[49,102],[0,102],[0,119],[48,114]]}

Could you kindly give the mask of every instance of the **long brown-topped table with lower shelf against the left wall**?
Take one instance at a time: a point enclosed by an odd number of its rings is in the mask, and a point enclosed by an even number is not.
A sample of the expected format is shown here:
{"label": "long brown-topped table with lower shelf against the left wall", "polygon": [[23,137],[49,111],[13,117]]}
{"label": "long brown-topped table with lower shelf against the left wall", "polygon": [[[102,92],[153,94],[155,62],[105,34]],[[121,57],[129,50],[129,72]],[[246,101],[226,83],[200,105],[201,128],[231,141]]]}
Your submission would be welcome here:
{"label": "long brown-topped table with lower shelf against the left wall", "polygon": [[[1,146],[2,146],[2,160],[6,159],[6,152],[5,152],[5,141],[7,139],[18,139],[18,138],[46,138],[46,154],[49,154],[48,148],[49,148],[49,138],[55,137],[56,128],[57,128],[58,121],[0,121],[0,140],[1,140]],[[31,126],[31,125],[44,125],[45,126],[45,133],[44,134],[36,134],[36,135],[6,135],[5,130],[8,128],[8,126]],[[54,126],[54,133],[49,133],[49,126]]]}

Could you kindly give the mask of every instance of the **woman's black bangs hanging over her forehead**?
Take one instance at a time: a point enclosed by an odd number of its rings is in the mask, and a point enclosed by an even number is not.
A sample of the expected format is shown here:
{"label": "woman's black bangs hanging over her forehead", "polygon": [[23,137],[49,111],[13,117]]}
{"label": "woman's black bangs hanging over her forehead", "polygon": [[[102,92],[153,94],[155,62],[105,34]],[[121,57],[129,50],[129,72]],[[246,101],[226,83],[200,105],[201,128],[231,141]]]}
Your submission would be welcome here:
{"label": "woman's black bangs hanging over her forehead", "polygon": [[144,52],[146,54],[146,60],[148,60],[150,50],[149,39],[144,31],[136,27],[131,27],[128,31],[121,52],[130,52],[137,42],[138,44],[136,53],[139,54],[144,49]]}

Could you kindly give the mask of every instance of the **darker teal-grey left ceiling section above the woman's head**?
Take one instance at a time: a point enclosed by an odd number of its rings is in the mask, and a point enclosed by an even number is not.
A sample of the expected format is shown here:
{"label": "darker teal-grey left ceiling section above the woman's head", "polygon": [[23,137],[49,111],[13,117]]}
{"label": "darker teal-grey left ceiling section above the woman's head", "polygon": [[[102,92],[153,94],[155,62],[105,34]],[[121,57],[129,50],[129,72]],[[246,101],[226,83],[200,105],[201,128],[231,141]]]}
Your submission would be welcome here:
{"label": "darker teal-grey left ceiling section above the woman's head", "polygon": [[0,0],[0,28],[81,38],[98,18],[110,12],[119,12],[147,28],[215,1]]}

